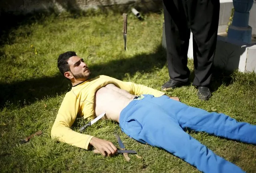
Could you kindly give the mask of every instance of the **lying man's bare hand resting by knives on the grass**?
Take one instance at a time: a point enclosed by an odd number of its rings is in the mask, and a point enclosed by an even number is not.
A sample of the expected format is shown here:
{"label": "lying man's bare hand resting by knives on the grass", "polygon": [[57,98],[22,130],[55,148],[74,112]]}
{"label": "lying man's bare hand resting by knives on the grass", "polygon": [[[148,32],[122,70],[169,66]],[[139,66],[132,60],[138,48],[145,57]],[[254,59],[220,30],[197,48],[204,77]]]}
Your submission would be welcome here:
{"label": "lying man's bare hand resting by knives on the grass", "polygon": [[115,145],[110,141],[93,137],[90,144],[93,145],[95,149],[99,150],[104,156],[111,156],[117,153],[117,147],[115,147]]}

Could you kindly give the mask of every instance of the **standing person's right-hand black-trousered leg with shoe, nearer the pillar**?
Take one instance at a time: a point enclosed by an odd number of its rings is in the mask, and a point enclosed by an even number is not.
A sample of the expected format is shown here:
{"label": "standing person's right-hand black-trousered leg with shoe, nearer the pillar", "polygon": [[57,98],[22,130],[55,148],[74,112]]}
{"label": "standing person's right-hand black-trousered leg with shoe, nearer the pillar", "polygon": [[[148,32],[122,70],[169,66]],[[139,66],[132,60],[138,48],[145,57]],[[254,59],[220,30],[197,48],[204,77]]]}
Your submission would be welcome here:
{"label": "standing person's right-hand black-trousered leg with shoe, nearer the pillar", "polygon": [[212,78],[216,50],[220,1],[187,0],[186,5],[189,25],[193,33],[195,72],[193,85],[199,87],[199,98],[207,100],[211,96],[208,86]]}

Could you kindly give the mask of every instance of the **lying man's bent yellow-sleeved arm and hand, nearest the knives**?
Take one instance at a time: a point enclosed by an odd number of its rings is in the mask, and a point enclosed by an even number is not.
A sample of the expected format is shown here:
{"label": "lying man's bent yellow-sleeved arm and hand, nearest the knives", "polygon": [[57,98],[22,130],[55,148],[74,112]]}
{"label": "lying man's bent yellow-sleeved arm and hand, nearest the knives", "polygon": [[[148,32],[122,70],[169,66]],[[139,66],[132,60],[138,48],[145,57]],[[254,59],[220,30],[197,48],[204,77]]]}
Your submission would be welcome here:
{"label": "lying man's bent yellow-sleeved arm and hand, nearest the knives", "polygon": [[93,146],[101,151],[102,155],[110,156],[115,154],[117,148],[110,141],[78,133],[70,128],[79,110],[79,103],[77,101],[79,100],[72,93],[65,95],[52,126],[51,137],[83,149],[89,149],[90,146]]}

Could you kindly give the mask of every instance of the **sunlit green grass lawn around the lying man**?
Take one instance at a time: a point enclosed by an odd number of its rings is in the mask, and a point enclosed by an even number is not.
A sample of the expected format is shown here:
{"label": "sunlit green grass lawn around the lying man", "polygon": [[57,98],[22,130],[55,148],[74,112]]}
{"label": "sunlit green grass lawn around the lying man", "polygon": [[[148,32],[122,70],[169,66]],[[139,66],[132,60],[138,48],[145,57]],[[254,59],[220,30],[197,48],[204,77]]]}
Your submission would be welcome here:
{"label": "sunlit green grass lawn around the lying man", "polygon": [[[73,50],[85,59],[92,75],[104,74],[119,80],[144,84],[155,89],[169,80],[165,50],[161,47],[162,13],[144,14],[140,21],[128,14],[127,51],[123,43],[122,14],[94,12],[84,15],[26,16],[2,21],[0,44],[0,170],[1,172],[167,172],[198,173],[181,159],[161,149],[138,143],[121,132],[110,120],[98,121],[83,133],[112,141],[118,146],[118,131],[127,149],[138,156],[103,157],[50,137],[58,108],[71,84],[57,68],[60,53]],[[214,69],[213,94],[200,101],[193,80],[190,85],[166,92],[183,103],[207,111],[226,113],[238,121],[256,124],[256,74]],[[171,108],[170,108],[171,109]],[[87,121],[77,119],[78,130]],[[19,141],[38,130],[42,135],[28,143]],[[188,132],[216,154],[256,172],[256,146],[222,139],[206,133]]]}

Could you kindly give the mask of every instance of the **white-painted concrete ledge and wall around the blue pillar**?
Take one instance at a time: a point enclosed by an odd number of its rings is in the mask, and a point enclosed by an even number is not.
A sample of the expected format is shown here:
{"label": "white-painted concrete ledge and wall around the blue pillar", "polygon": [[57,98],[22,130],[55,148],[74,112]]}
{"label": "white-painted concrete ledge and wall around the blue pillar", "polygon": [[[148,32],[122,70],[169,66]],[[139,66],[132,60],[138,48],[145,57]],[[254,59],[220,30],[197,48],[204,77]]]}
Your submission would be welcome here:
{"label": "white-painted concrete ledge and wall around the blue pillar", "polygon": [[[228,27],[231,10],[233,7],[232,0],[220,0],[220,19],[218,33],[226,32]],[[225,4],[227,3],[227,4]],[[250,10],[249,25],[252,27],[252,34],[256,35],[256,2]],[[163,47],[166,48],[165,31],[163,28]],[[256,44],[246,44],[237,40],[232,40],[224,36],[218,36],[216,45],[216,54],[214,65],[224,68],[228,71],[238,69],[240,72],[256,71]],[[190,34],[189,48],[187,57],[193,59],[193,42],[192,33]]]}

